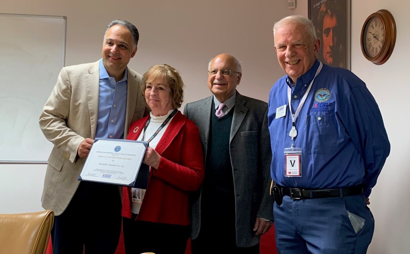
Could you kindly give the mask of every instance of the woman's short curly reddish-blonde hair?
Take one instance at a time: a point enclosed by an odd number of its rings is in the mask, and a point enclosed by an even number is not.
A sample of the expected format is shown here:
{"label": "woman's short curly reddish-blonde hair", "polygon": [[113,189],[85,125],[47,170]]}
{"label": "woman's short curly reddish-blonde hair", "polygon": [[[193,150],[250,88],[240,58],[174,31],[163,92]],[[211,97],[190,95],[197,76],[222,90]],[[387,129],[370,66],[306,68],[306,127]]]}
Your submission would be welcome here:
{"label": "woman's short curly reddish-blonde hair", "polygon": [[[182,102],[184,101],[184,89],[185,85],[182,81],[182,77],[178,70],[169,66],[168,64],[157,64],[152,66],[147,70],[144,75],[142,75],[142,95],[145,97],[145,90],[147,88],[147,83],[151,83],[156,79],[166,78],[168,85],[171,88],[172,93],[172,106],[175,109],[181,107]],[[148,80],[150,79],[150,80]]]}

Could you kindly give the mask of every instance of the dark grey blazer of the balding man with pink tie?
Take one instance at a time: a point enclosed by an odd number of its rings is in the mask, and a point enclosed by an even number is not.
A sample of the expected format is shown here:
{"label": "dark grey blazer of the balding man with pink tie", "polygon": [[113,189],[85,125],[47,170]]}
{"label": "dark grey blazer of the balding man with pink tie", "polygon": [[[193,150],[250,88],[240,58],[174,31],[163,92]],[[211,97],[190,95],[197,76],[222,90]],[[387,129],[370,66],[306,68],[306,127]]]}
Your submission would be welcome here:
{"label": "dark grey blazer of the balding man with pink tie", "polygon": [[[206,161],[213,95],[185,105],[184,115],[199,128]],[[235,188],[236,244],[250,247],[260,241],[252,230],[256,217],[273,220],[273,198],[269,195],[272,152],[268,130],[268,104],[236,92],[229,153]],[[206,165],[205,165],[206,167]],[[200,189],[192,200],[191,238],[201,225]]]}

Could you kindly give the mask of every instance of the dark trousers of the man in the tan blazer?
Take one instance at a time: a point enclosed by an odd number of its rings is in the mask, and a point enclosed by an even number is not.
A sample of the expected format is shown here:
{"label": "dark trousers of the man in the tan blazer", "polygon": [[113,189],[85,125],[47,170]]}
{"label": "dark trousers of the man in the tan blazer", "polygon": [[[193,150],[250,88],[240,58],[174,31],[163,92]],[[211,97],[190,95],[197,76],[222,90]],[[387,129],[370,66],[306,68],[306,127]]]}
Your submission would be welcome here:
{"label": "dark trousers of the man in the tan blazer", "polygon": [[121,234],[118,186],[82,181],[54,218],[53,254],[114,254]]}

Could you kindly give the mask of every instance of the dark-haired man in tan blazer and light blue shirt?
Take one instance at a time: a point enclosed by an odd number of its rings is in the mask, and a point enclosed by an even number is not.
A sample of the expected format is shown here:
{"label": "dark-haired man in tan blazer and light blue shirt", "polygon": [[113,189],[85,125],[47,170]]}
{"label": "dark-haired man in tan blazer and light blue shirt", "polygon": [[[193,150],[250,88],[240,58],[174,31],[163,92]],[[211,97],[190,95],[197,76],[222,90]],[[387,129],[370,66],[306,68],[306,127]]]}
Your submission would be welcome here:
{"label": "dark-haired man in tan blazer and light blue shirt", "polygon": [[102,59],[64,67],[40,127],[54,144],[44,179],[44,209],[56,218],[53,253],[114,254],[121,232],[117,186],[80,182],[94,138],[125,138],[131,122],[149,112],[141,75],[127,67],[137,52],[139,33],[125,20],[107,25]]}

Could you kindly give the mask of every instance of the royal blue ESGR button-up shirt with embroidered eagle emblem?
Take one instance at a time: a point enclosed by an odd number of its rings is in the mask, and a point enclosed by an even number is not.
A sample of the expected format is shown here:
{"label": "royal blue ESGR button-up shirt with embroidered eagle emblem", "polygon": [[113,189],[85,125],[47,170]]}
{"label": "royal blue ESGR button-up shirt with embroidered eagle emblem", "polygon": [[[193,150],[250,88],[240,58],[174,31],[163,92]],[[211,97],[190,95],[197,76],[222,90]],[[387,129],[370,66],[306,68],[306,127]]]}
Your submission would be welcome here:
{"label": "royal blue ESGR button-up shirt with embroidered eagle emblem", "polygon": [[[292,117],[287,98],[292,91],[295,113],[318,67],[292,85],[284,76],[269,94],[271,177],[281,186],[298,188],[341,188],[363,184],[370,195],[390,152],[390,143],[380,110],[362,80],[351,71],[323,64],[296,120],[295,147],[302,148],[301,177],[285,177],[284,148],[291,147]],[[296,98],[295,98],[296,96]],[[276,118],[276,109],[287,105],[286,116]]]}

